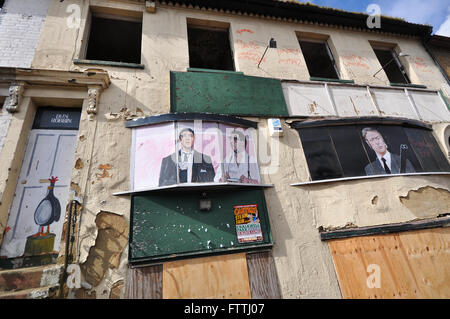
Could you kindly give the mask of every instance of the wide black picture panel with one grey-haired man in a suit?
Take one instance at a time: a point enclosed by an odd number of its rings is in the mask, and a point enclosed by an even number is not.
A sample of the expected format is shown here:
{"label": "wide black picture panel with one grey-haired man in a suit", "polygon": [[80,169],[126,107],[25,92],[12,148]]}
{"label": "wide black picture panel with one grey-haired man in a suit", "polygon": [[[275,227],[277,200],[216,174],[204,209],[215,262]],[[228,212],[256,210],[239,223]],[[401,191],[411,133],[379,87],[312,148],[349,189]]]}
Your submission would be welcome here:
{"label": "wide black picture panel with one grey-haired man in a suit", "polygon": [[298,129],[313,181],[450,172],[432,132],[400,125],[335,125]]}

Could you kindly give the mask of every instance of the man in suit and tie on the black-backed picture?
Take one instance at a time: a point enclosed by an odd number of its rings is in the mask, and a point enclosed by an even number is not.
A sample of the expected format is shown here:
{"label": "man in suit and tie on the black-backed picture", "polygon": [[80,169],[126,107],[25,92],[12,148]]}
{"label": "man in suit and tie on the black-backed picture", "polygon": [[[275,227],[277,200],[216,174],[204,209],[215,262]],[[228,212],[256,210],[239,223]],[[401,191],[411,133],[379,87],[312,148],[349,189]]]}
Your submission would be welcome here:
{"label": "man in suit and tie on the black-backed picture", "polygon": [[404,159],[404,171],[401,171],[402,159],[399,155],[389,152],[383,136],[376,129],[367,127],[362,130],[362,136],[377,155],[377,159],[365,167],[367,175],[415,173],[408,159]]}

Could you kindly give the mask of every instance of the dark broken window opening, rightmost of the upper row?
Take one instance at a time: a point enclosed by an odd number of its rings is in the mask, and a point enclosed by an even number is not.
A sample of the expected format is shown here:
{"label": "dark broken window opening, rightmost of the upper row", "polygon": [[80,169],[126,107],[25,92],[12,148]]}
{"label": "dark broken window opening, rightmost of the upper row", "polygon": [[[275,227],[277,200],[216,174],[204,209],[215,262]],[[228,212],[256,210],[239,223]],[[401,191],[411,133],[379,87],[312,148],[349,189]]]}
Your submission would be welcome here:
{"label": "dark broken window opening, rightmost of the upper row", "polygon": [[391,83],[411,83],[395,50],[387,48],[374,48],[373,50]]}

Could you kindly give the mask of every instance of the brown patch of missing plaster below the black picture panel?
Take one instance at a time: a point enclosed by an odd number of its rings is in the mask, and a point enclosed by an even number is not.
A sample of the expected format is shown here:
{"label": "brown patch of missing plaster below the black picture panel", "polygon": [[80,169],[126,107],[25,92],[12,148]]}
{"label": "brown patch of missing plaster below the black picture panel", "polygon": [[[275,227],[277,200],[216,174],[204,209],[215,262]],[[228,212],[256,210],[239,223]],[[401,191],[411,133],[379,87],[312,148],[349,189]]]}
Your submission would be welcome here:
{"label": "brown patch of missing plaster below the black picture panel", "polygon": [[425,212],[437,215],[450,213],[450,192],[442,188],[427,186],[411,190],[408,195],[400,196],[400,202],[418,217]]}

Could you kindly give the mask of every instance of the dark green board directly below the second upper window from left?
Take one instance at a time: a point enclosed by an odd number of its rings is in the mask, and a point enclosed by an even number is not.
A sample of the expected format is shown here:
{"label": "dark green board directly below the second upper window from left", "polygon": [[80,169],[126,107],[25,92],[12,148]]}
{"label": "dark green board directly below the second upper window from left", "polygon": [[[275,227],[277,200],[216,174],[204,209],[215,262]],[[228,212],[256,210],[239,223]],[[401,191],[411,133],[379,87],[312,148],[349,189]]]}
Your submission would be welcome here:
{"label": "dark green board directly below the second upper window from left", "polygon": [[280,80],[232,72],[170,72],[171,112],[289,116]]}

